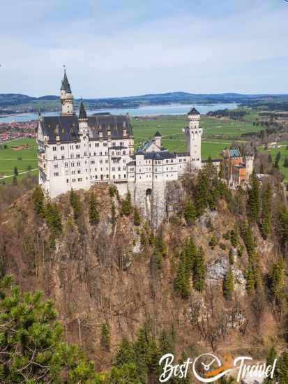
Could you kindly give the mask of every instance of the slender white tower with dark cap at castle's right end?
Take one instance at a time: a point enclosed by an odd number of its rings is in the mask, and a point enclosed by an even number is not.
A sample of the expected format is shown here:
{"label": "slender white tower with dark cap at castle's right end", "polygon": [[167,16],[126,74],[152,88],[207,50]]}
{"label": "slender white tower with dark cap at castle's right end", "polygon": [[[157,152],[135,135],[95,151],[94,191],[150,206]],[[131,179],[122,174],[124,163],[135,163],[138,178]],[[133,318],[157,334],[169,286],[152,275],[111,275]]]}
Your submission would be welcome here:
{"label": "slender white tower with dark cap at castle's right end", "polygon": [[199,127],[200,114],[192,108],[188,113],[189,126],[185,128],[187,152],[190,155],[191,169],[201,168],[201,137],[203,130]]}

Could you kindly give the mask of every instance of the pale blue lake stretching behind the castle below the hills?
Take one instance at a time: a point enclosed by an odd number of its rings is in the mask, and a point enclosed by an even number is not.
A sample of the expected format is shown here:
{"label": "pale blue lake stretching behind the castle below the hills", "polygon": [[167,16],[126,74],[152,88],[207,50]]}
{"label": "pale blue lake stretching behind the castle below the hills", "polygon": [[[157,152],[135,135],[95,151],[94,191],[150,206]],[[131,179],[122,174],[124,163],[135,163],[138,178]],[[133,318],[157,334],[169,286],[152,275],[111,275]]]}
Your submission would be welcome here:
{"label": "pale blue lake stretching behind the castle below the hills", "polygon": [[[218,103],[210,105],[192,104],[169,104],[169,105],[144,105],[139,108],[105,108],[100,110],[87,110],[88,115],[98,112],[110,112],[114,115],[147,116],[147,115],[184,115],[191,107],[197,108],[200,113],[205,114],[214,110],[233,110],[237,107],[236,103]],[[58,112],[43,112],[43,116],[55,116]],[[23,113],[22,115],[8,115],[0,117],[0,123],[10,123],[11,121],[29,121],[38,119],[38,113]]]}

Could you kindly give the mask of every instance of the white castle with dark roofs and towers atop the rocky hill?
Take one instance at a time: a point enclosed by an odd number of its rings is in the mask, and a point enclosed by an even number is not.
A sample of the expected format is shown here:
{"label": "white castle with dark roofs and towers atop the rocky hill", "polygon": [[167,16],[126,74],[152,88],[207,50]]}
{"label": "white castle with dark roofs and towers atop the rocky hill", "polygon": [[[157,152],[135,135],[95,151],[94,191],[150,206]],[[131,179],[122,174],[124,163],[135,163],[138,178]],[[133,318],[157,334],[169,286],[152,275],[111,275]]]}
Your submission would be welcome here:
{"label": "white castle with dark roofs and towers atop the rocky hill", "polygon": [[[66,72],[60,100],[61,115],[39,117],[39,183],[45,193],[54,198],[71,189],[113,183],[120,195],[130,191],[135,204],[147,217],[154,217],[157,226],[166,212],[167,182],[202,167],[199,112],[192,108],[188,113],[187,152],[168,152],[159,132],[135,152],[128,114],[87,116],[83,103],[79,116],[75,114]],[[213,161],[217,168],[220,161]]]}

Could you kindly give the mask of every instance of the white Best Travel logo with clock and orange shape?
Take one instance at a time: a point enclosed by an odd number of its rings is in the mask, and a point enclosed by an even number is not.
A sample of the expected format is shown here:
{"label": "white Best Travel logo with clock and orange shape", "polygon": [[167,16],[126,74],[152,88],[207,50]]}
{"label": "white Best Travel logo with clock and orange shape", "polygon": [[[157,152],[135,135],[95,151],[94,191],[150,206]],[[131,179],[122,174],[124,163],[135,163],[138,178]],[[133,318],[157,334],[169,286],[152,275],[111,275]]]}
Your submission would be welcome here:
{"label": "white Best Travel logo with clock and orange shape", "polygon": [[162,366],[162,374],[159,377],[160,383],[165,383],[170,378],[186,378],[188,371],[192,370],[192,374],[202,383],[213,383],[225,375],[236,376],[238,383],[247,376],[250,378],[273,378],[277,359],[272,365],[264,363],[251,363],[252,357],[239,356],[233,359],[231,353],[223,357],[223,361],[212,353],[203,353],[194,360],[190,357],[182,364],[173,364],[174,355],[167,353],[159,360]]}

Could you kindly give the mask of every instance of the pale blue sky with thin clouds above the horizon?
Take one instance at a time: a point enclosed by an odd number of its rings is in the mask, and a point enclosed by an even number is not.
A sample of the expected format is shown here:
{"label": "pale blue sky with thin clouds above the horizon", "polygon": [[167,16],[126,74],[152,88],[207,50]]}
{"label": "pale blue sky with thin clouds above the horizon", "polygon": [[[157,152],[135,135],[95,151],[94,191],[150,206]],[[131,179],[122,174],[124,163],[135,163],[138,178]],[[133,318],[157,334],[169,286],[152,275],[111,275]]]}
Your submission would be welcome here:
{"label": "pale blue sky with thin clouds above the horizon", "polygon": [[285,0],[0,0],[0,94],[288,94]]}

